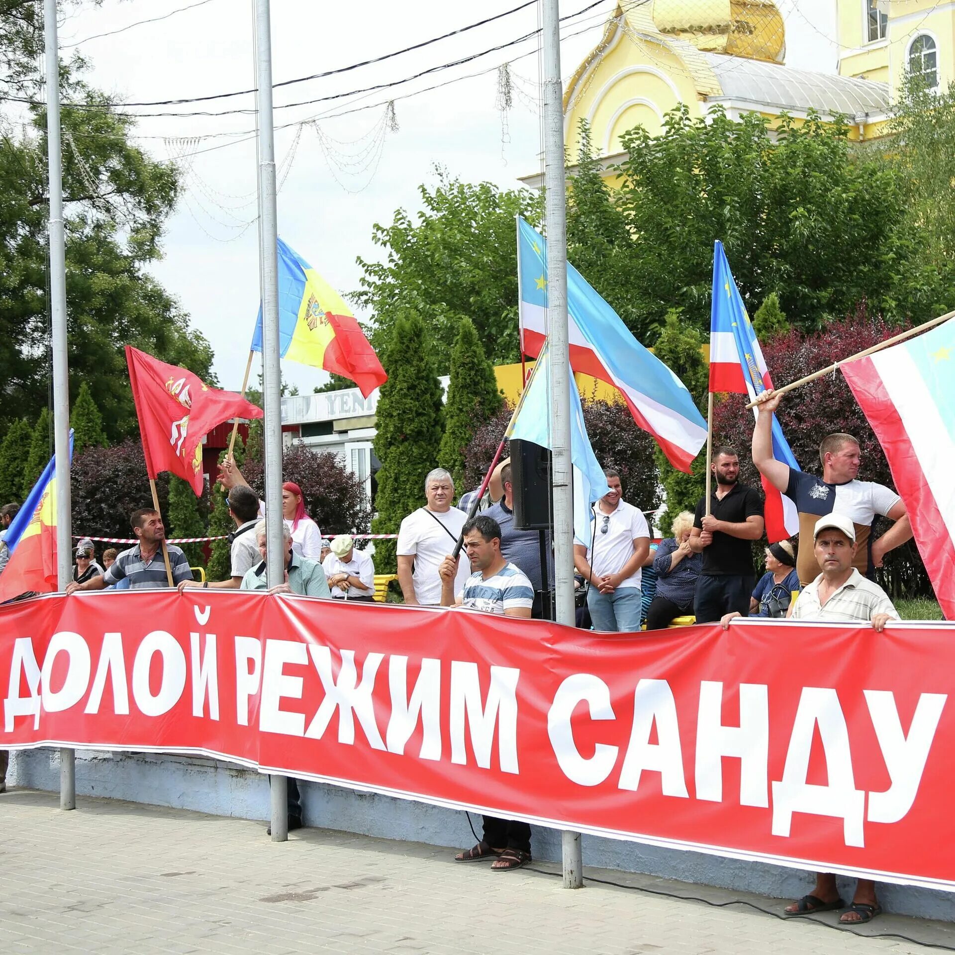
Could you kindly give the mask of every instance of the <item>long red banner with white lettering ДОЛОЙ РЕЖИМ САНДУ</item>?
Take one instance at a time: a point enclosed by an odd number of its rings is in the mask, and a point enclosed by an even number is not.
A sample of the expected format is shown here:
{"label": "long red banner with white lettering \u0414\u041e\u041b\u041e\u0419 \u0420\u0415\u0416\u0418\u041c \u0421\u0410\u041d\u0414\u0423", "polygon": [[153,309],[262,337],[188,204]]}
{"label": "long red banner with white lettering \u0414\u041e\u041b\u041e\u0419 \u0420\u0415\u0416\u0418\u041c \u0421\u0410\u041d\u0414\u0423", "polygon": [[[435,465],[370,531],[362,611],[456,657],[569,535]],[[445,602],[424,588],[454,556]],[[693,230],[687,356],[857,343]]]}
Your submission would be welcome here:
{"label": "long red banner with white lettering \u0414\u041e\u041b\u041e\u0419 \u0420\u0415\u0416\u0418\u041c \u0421\u0410\u041d\u0414\u0423", "polygon": [[202,752],[613,838],[955,887],[952,625],[613,637],[460,610],[132,591],[3,606],[0,632],[0,749]]}

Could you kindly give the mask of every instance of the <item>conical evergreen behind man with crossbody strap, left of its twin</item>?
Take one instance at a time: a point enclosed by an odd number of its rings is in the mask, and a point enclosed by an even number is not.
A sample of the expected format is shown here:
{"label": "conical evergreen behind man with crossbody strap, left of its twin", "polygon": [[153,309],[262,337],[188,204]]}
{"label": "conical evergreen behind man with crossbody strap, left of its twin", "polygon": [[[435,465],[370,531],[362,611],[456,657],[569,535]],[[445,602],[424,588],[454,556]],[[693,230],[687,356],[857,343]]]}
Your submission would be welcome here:
{"label": "conical evergreen behind man with crossbody strap, left of its twin", "polygon": [[[424,479],[435,467],[444,429],[441,384],[424,321],[409,309],[394,321],[382,364],[388,381],[378,399],[374,453],[381,461],[371,523],[376,534],[394,534],[422,504]],[[380,541],[374,563],[379,573],[395,568],[394,541]]]}

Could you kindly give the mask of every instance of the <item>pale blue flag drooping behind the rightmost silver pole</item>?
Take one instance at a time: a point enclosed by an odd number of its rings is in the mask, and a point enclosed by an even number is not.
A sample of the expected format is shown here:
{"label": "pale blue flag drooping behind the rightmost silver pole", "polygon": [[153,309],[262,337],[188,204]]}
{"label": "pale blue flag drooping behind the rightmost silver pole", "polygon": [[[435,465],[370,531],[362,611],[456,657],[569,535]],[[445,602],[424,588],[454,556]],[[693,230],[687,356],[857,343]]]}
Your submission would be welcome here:
{"label": "pale blue flag drooping behind the rightmost silver pole", "polygon": [[[537,364],[531,371],[525,393],[520,401],[518,414],[508,429],[509,438],[519,438],[540,444],[542,448],[553,447],[550,428],[550,410],[553,407],[553,391],[550,377],[550,347],[545,343],[538,355]],[[569,371],[569,370],[568,370]],[[570,460],[574,479],[574,537],[584,543],[590,540],[592,501],[610,493],[604,469],[597,461],[587,429],[584,424],[584,409],[581,396],[570,377]]]}

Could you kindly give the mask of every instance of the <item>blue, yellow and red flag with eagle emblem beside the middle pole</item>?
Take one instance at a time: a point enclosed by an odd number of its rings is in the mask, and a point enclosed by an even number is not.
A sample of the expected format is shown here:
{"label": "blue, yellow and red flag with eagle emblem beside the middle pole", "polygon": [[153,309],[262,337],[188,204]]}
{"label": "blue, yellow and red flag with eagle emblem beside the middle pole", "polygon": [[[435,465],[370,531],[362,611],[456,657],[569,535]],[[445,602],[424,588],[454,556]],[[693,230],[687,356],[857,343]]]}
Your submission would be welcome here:
{"label": "blue, yellow and red flag with eagle emblem beside the middle pole", "polygon": [[[283,358],[350,378],[367,398],[388,380],[345,300],[279,240],[279,342]],[[262,307],[251,350],[262,350]]]}

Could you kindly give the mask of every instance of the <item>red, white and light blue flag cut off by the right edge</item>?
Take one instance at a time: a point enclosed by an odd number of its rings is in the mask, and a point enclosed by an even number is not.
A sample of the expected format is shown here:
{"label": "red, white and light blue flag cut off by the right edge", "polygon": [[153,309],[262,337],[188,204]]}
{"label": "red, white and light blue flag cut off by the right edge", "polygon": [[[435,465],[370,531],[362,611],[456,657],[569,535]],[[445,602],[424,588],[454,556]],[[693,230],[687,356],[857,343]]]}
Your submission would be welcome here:
{"label": "red, white and light blue flag cut off by the right edge", "polygon": [[955,322],[846,362],[946,620],[955,620]]}

